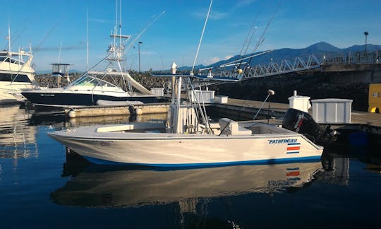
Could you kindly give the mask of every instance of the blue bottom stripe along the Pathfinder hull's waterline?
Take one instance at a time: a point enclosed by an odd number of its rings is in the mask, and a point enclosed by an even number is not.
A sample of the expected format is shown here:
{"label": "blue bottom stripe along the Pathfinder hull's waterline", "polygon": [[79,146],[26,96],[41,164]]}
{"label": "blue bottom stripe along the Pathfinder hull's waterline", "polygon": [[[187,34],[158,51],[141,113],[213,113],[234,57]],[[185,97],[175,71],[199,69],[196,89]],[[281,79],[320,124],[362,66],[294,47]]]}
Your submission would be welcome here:
{"label": "blue bottom stripe along the Pathfinder hull's waterline", "polygon": [[146,164],[146,163],[119,163],[110,160],[101,160],[97,158],[83,157],[90,163],[99,165],[143,165],[150,167],[165,167],[165,168],[186,168],[186,167],[217,167],[228,165],[266,165],[266,164],[282,164],[282,163],[296,163],[306,161],[318,161],[320,155],[303,157],[303,158],[280,158],[280,159],[268,159],[268,160],[245,160],[245,161],[231,161],[225,163],[189,163],[189,164]]}

